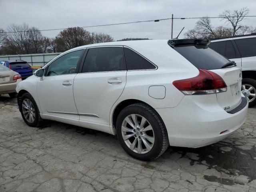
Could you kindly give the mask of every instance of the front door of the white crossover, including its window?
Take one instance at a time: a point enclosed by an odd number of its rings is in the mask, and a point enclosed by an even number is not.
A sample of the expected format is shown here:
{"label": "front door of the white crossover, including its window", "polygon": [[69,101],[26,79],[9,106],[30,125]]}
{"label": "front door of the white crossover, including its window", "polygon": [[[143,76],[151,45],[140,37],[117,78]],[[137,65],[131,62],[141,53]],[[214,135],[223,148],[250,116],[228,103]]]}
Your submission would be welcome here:
{"label": "front door of the white crossover, including its window", "polygon": [[[84,50],[68,52],[51,62],[38,81],[37,92],[40,108],[46,118],[70,118],[78,122],[74,102],[73,82]],[[79,125],[79,123],[78,123]]]}

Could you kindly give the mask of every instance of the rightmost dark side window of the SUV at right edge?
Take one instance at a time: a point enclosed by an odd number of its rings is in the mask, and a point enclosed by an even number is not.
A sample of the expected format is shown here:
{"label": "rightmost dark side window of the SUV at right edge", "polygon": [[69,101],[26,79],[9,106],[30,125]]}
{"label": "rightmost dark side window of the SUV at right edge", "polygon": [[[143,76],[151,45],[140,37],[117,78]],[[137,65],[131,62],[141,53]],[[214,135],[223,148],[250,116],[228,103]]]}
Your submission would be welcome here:
{"label": "rightmost dark side window of the SUV at right edge", "polygon": [[242,57],[256,56],[256,38],[235,40]]}

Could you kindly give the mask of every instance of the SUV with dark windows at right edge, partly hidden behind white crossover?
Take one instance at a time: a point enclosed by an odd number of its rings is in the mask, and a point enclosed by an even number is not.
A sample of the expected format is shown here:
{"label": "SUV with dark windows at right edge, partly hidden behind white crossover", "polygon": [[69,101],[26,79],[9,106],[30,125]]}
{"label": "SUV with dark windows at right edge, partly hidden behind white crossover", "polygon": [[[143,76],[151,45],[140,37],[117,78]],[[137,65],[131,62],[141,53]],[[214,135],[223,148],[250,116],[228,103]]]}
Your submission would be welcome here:
{"label": "SUV with dark windows at right edge, partly hidden behind white crossover", "polygon": [[256,34],[212,40],[209,47],[242,67],[242,92],[256,105]]}

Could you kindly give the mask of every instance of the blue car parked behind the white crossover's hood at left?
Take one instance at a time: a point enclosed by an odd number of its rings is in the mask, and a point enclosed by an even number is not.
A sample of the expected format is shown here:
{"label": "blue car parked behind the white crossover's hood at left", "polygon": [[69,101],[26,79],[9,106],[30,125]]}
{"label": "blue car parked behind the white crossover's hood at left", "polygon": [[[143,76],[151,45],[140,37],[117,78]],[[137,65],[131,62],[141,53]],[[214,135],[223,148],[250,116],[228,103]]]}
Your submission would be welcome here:
{"label": "blue car parked behind the white crossover's hood at left", "polygon": [[22,79],[26,79],[33,74],[32,67],[23,60],[2,61],[1,64],[15,72],[18,72]]}

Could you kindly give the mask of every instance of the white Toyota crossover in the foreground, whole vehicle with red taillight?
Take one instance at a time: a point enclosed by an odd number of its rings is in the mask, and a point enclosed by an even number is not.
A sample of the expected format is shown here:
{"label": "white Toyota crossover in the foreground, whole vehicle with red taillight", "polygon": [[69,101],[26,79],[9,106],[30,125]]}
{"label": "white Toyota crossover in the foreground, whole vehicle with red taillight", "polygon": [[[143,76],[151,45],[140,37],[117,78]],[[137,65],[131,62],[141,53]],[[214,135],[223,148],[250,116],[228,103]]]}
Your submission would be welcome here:
{"label": "white Toyota crossover in the foreground, whole vehicle with red taillight", "polygon": [[203,40],[141,40],[68,50],[20,84],[29,126],[43,119],[117,134],[134,158],[223,140],[246,119],[242,70]]}

